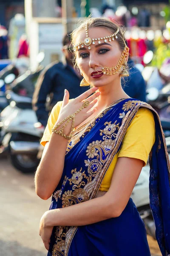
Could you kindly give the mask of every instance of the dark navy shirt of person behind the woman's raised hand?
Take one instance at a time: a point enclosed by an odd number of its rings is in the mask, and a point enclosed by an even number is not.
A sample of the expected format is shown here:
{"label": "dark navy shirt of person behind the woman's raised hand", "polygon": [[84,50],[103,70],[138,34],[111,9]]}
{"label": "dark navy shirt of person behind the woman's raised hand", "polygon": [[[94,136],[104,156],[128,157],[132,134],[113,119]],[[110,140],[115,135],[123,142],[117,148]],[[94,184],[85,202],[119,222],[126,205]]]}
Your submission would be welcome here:
{"label": "dark navy shirt of person behind the woman's raised hand", "polygon": [[[70,99],[76,98],[89,89],[89,87],[80,87],[81,80],[73,67],[62,62],[52,63],[42,71],[32,101],[37,119],[42,125],[47,125],[49,112],[57,102],[63,100],[65,89],[69,91]],[[48,95],[50,95],[50,104],[47,108]]]}

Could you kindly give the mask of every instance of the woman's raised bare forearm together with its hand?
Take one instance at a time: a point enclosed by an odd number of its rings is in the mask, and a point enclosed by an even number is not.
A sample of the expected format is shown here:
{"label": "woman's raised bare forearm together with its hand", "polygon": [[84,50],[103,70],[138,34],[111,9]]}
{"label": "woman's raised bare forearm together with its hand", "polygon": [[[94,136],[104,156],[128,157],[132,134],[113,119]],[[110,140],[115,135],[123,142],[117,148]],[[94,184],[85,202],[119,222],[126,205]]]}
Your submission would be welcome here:
{"label": "woman's raised bare forearm together with its hand", "polygon": [[[97,97],[100,95],[99,92],[94,93],[98,88],[93,87],[90,90],[82,93],[76,99],[69,101],[69,93],[66,90],[63,105],[61,111],[59,113],[59,118],[55,124],[59,124],[60,121],[65,119],[65,117],[71,115],[75,111],[77,111],[80,107],[82,107],[83,101],[88,97],[88,101],[90,102],[87,108],[83,108],[82,111],[76,114],[74,127],[81,124],[85,119],[91,116],[96,109],[94,105],[97,102]],[[94,93],[93,95],[91,95]],[[91,95],[91,96],[90,96]],[[60,127],[59,127],[60,128]],[[64,128],[65,134],[70,134],[71,132],[71,122]],[[49,143],[45,146],[45,151],[42,155],[42,159],[40,161],[40,165],[37,168],[37,172],[35,174],[35,189],[36,193],[40,198],[46,200],[51,197],[54,189],[56,189],[59,180],[61,179],[63,168],[64,168],[64,160],[65,160],[65,152],[67,148],[68,140],[62,137],[59,134],[53,133],[51,135],[51,139]]]}

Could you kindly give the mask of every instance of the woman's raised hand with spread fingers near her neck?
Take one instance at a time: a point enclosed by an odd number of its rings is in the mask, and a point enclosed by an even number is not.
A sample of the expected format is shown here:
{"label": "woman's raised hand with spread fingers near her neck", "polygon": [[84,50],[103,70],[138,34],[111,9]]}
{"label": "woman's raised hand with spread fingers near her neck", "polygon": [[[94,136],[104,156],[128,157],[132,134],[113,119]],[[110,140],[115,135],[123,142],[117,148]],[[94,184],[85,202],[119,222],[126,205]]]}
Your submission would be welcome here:
{"label": "woman's raised hand with spread fingers near her neck", "polygon": [[[88,107],[83,108],[79,113],[75,115],[74,127],[77,127],[82,122],[84,122],[89,116],[91,116],[96,111],[96,108],[93,108],[93,107],[97,102],[96,98],[100,95],[100,92],[94,93],[96,90],[98,90],[98,87],[93,87],[87,90],[85,93],[82,93],[77,98],[71,100],[70,102],[69,102],[68,90],[65,90],[62,107],[59,112],[59,117],[57,119],[55,126],[59,124],[59,122],[61,122],[63,119],[65,119],[67,116],[72,115],[79,108],[81,108],[83,105],[83,102],[85,102],[86,100],[88,100],[90,104],[88,105]],[[91,95],[92,93],[94,94]],[[66,129],[65,133],[69,133],[69,131],[71,131],[71,122],[68,123],[65,129]]]}

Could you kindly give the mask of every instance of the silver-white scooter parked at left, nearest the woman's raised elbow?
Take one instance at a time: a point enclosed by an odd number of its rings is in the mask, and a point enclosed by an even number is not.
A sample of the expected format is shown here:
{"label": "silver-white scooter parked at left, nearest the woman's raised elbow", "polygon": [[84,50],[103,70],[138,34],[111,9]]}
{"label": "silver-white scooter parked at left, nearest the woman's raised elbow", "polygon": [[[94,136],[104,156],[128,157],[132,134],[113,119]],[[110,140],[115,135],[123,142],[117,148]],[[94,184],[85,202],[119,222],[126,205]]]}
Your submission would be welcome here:
{"label": "silver-white scooter parked at left, nearest the woman's raised elbow", "polygon": [[10,115],[1,121],[0,153],[9,155],[11,163],[21,172],[34,172],[39,162],[37,153],[41,136],[34,127],[37,116],[32,110],[30,98],[13,92],[9,95],[11,103],[7,108],[10,108]]}

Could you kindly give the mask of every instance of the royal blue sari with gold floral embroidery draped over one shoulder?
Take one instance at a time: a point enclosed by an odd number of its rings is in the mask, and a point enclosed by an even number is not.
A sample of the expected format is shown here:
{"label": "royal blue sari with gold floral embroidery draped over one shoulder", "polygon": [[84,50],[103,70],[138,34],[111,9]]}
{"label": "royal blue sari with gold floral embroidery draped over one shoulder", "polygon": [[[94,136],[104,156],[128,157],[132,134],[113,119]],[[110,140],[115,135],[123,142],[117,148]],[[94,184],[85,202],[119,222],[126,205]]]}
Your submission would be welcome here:
{"label": "royal blue sari with gold floral embroidery draped over one shoulder", "polygon": [[[155,118],[156,141],[150,152],[150,206],[161,253],[167,256],[170,254],[170,165],[159,117],[145,102],[120,99],[74,131],[50,209],[96,197],[127,128],[141,107],[153,111]],[[80,227],[54,227],[48,251],[48,256],[125,255],[150,256],[144,223],[131,198],[118,218]]]}

